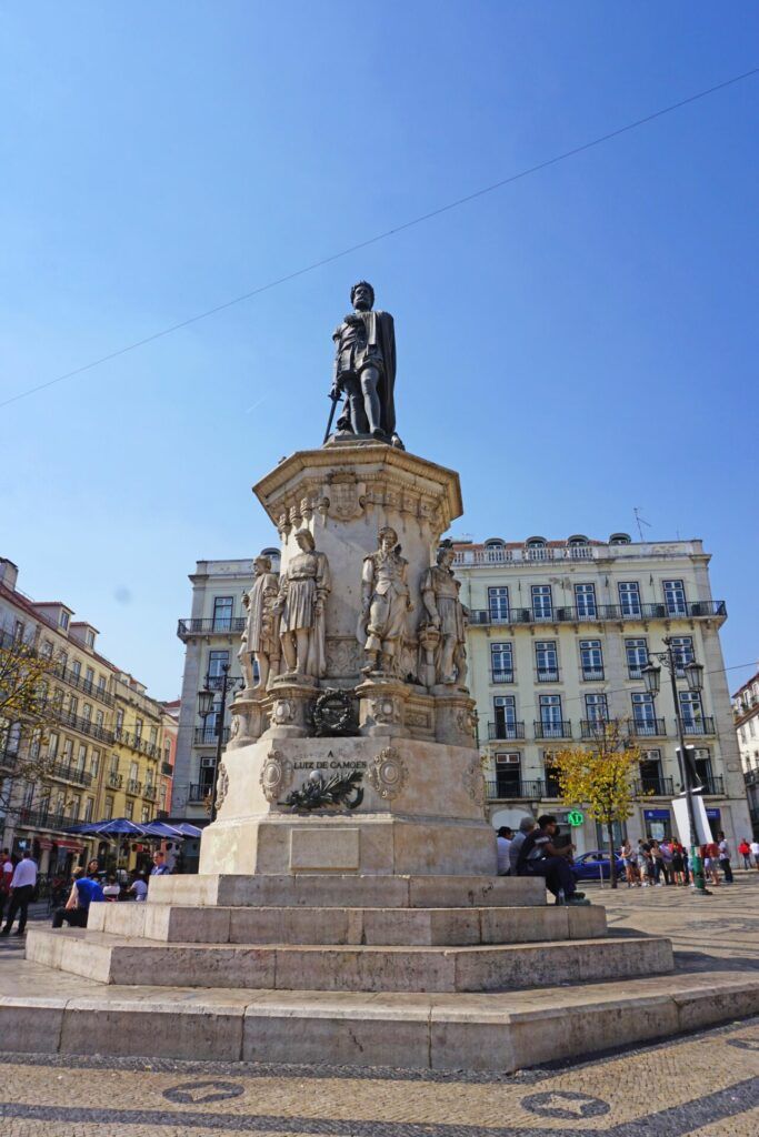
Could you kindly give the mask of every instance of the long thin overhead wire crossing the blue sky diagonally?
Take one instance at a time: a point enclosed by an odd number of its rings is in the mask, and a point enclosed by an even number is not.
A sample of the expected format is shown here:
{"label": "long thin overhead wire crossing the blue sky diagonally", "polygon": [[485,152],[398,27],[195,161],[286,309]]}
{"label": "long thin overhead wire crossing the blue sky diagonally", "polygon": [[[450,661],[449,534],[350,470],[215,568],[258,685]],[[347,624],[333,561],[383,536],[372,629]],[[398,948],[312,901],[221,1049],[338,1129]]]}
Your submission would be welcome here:
{"label": "long thin overhead wire crossing the blue sky diagonally", "polygon": [[554,155],[553,158],[546,158],[544,161],[539,161],[535,166],[528,166],[526,169],[521,169],[517,174],[510,174],[508,177],[502,177],[497,182],[484,185],[481,189],[475,190],[472,193],[467,193],[464,197],[448,201],[443,206],[438,206],[436,209],[428,210],[428,213],[419,214],[419,216],[412,217],[410,221],[403,222],[399,225],[395,225],[393,229],[387,229],[383,232],[376,233],[373,236],[369,236],[363,241],[356,242],[355,244],[349,244],[345,249],[340,249],[338,252],[332,252],[328,257],[322,257],[320,260],[314,260],[310,265],[304,265],[303,268],[296,268],[295,272],[286,273],[283,276],[278,276],[275,280],[269,281],[266,284],[261,284],[258,288],[250,289],[248,292],[241,292],[240,296],[232,297],[231,300],[224,300],[223,304],[217,304],[213,308],[206,308],[205,312],[198,312],[193,316],[188,316],[187,319],[181,319],[176,324],[170,324],[167,327],[163,327],[158,332],[152,332],[151,335],[146,335],[140,340],[134,340],[132,343],[117,348],[115,351],[109,351],[108,355],[100,356],[98,359],[92,359],[90,363],[83,364],[81,367],[67,371],[63,375],[56,375],[55,379],[49,379],[44,383],[38,383],[35,387],[28,387],[26,390],[19,391],[17,395],[11,395],[10,398],[5,399],[0,402],[0,407],[7,407],[11,402],[17,402],[19,399],[27,398],[30,395],[36,395],[38,391],[43,391],[49,387],[55,387],[56,383],[63,383],[67,379],[74,379],[76,375],[82,375],[84,372],[92,371],[93,367],[99,367],[101,364],[109,363],[112,359],[117,359],[119,356],[126,355],[129,351],[135,351],[137,348],[145,347],[148,343],[154,343],[156,340],[160,340],[165,335],[172,335],[174,332],[179,332],[183,327],[197,324],[200,319],[207,319],[209,316],[215,316],[220,312],[225,312],[228,308],[234,307],[234,305],[242,304],[245,300],[250,300],[253,297],[261,296],[262,292],[269,292],[271,289],[279,288],[280,284],[287,284],[288,281],[294,281],[298,276],[305,276],[306,273],[315,272],[316,268],[323,268],[325,265],[330,265],[335,260],[339,260],[341,257],[348,257],[352,252],[366,249],[371,244],[377,244],[379,241],[387,240],[388,236],[395,236],[397,233],[403,233],[405,230],[412,229],[414,225],[421,225],[423,222],[431,221],[434,217],[439,217],[442,214],[449,213],[452,209],[459,209],[461,206],[468,205],[470,201],[476,201],[478,198],[482,198],[488,193],[502,190],[504,186],[511,185],[513,182],[518,182],[523,177],[529,177],[531,174],[537,174],[539,171],[547,169],[550,166],[555,166],[560,161],[567,161],[568,158],[575,158],[577,155],[585,153],[586,150],[592,150],[594,147],[611,141],[611,139],[619,138],[620,134],[627,134],[629,131],[637,130],[640,126],[645,126],[647,123],[652,123],[657,118],[670,115],[674,110],[680,110],[683,107],[687,107],[692,102],[698,102],[700,99],[706,99],[710,94],[724,91],[726,88],[734,86],[736,83],[741,83],[743,80],[751,78],[757,74],[759,74],[759,67],[752,67],[751,70],[743,72],[740,75],[733,75],[732,78],[725,80],[723,83],[716,83],[713,86],[706,88],[703,91],[698,91],[695,94],[690,94],[685,99],[679,99],[677,102],[673,102],[668,107],[661,107],[659,110],[654,110],[650,115],[644,115],[643,118],[636,118],[634,122],[626,123],[624,126],[618,126],[616,130],[609,131],[607,134],[600,134],[589,142],[583,142],[580,146],[572,147],[571,150],[564,150],[561,153]]}

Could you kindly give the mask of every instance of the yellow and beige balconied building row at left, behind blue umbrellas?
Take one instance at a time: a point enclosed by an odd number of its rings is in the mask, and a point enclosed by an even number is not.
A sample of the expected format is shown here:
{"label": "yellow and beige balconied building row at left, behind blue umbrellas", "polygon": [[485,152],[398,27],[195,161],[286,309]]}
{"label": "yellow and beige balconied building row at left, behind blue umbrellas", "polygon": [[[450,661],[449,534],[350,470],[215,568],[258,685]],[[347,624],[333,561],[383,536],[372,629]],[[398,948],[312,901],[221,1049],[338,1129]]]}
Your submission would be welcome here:
{"label": "yellow and beige balconied building row at left, behind blue umbrellas", "polygon": [[[96,853],[131,868],[140,849],[129,843],[109,845],[66,830],[77,822],[155,818],[163,708],[97,652],[97,628],[74,620],[61,601],[32,600],[17,576],[16,566],[0,558],[0,636],[6,644],[23,640],[51,661],[44,680],[49,714],[43,731],[1,724],[2,845],[16,853],[31,847],[47,874],[67,874],[75,861]],[[28,762],[44,767],[44,777],[18,777]]]}

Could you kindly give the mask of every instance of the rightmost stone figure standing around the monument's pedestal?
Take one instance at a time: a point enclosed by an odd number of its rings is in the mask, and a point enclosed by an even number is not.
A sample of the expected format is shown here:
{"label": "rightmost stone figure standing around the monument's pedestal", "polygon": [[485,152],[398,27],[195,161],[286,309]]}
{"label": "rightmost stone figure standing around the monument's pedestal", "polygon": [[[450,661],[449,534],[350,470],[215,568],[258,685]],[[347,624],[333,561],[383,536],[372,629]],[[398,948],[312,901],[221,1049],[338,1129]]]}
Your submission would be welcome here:
{"label": "rightmost stone figure standing around the monument's pedestal", "polygon": [[463,687],[467,682],[465,636],[469,609],[459,599],[461,583],[453,574],[454,557],[455,550],[444,541],[438,549],[437,564],[428,568],[422,578],[422,600],[429,620],[420,629],[420,640],[424,639],[424,631],[430,630],[438,640],[435,653],[436,682]]}

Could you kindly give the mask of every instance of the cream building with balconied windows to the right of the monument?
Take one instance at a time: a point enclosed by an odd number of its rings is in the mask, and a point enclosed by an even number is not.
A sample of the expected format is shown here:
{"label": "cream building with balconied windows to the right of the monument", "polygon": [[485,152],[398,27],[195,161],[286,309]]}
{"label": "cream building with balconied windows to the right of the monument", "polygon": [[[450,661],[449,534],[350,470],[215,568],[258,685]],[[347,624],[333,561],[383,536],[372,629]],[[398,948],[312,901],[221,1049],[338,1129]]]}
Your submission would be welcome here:
{"label": "cream building with balconied windows to the right of the monument", "polygon": [[[703,664],[703,691],[678,675],[686,741],[695,747],[707,811],[728,838],[749,824],[732,723],[719,628],[723,600],[709,583],[702,542],[563,541],[492,538],[454,541],[455,572],[470,608],[469,683],[477,699],[488,807],[494,824],[559,805],[551,756],[593,737],[599,717],[622,720],[643,752],[640,800],[627,822],[634,841],[673,831],[670,799],[680,788],[675,707],[667,672],[646,694],[641,667],[673,637],[683,662]],[[599,847],[586,819],[578,849]]]}

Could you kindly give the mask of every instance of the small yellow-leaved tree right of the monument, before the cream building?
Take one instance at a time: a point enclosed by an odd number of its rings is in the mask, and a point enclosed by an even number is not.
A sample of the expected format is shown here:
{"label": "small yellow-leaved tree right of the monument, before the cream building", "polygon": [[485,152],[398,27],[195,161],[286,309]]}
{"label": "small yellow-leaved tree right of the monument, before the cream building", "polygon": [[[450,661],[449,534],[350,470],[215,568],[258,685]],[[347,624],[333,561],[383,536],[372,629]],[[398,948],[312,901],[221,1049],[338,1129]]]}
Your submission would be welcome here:
{"label": "small yellow-leaved tree right of the monument, before the cream building", "polygon": [[614,824],[634,811],[634,775],[641,752],[622,733],[618,721],[597,723],[597,737],[587,747],[572,747],[554,755],[562,802],[584,805],[607,830],[611,887],[617,887]]}

